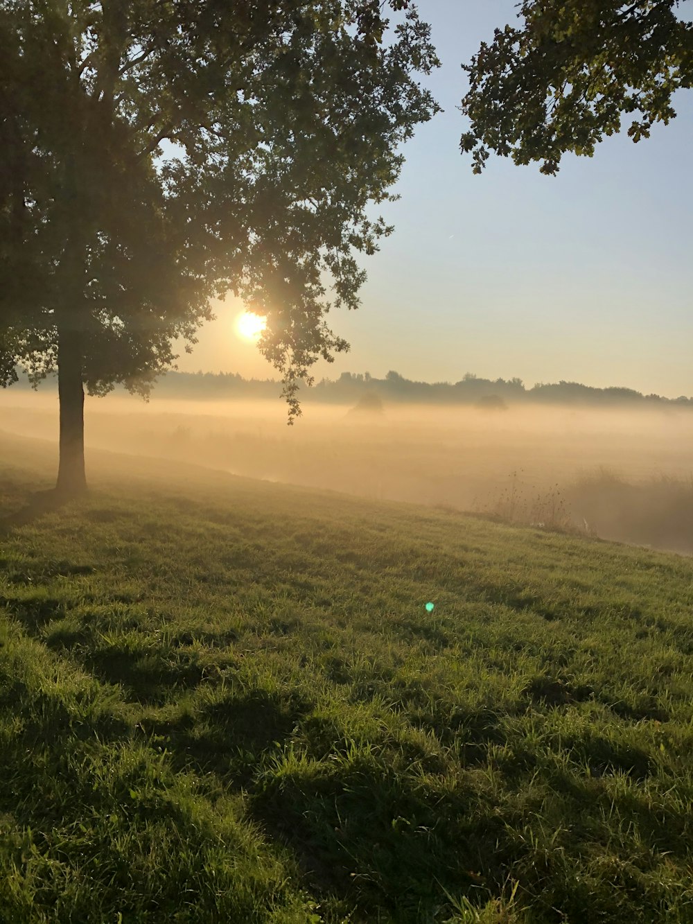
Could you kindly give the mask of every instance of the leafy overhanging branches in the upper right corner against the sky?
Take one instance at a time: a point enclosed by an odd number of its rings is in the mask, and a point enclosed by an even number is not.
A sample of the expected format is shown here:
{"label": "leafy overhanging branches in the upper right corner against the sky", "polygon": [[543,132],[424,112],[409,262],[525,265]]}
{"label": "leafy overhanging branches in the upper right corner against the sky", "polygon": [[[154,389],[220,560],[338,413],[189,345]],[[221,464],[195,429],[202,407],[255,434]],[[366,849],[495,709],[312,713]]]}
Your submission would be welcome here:
{"label": "leafy overhanging branches in the upper right corner against the sky", "polygon": [[[681,0],[681,6],[686,0]],[[561,155],[592,156],[604,135],[634,116],[638,141],[668,123],[679,88],[693,83],[693,23],[679,0],[523,0],[520,28],[497,29],[464,67],[461,148],[480,173],[489,150],[516,164],[541,161],[555,175]]]}

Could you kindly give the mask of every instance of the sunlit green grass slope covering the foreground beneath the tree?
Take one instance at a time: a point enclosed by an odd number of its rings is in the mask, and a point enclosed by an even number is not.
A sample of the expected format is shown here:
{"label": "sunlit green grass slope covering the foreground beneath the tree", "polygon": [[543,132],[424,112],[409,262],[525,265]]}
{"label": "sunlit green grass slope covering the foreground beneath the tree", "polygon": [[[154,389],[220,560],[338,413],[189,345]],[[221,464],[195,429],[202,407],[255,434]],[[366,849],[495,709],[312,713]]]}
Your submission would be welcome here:
{"label": "sunlit green grass slope covering the foreground beneath the tree", "polygon": [[109,477],[0,536],[3,924],[693,921],[690,560]]}

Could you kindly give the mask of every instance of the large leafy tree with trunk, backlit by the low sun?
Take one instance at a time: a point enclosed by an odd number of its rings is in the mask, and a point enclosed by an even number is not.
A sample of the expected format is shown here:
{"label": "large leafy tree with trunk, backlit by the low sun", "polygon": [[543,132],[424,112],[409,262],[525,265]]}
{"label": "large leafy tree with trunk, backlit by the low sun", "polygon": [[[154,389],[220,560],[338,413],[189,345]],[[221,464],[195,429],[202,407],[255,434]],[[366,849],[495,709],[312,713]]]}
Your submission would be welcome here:
{"label": "large leafy tree with trunk, backlit by the low sun", "polygon": [[84,388],[146,395],[214,296],[267,316],[291,421],[438,108],[410,0],[0,0],[0,46],[0,383],[57,371],[57,488],[86,486]]}

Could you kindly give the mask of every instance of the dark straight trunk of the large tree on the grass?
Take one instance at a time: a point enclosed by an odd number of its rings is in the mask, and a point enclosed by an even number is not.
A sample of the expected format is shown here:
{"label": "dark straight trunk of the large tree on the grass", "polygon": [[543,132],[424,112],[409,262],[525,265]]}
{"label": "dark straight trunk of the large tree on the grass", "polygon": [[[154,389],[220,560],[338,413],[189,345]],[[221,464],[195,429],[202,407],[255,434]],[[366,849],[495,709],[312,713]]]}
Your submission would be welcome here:
{"label": "dark straight trunk of the large tree on the grass", "polygon": [[87,490],[84,473],[84,384],[79,331],[75,322],[58,327],[60,464],[55,490],[67,496]]}

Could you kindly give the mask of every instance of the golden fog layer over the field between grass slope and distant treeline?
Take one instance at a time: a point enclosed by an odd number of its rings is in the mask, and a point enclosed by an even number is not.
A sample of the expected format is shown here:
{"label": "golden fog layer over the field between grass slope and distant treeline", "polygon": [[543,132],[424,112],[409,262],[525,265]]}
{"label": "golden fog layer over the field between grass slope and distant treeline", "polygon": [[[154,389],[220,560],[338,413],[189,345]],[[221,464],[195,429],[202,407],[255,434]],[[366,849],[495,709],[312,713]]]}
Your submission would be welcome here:
{"label": "golden fog layer over the field between grass slope and distant treeline", "polygon": [[[145,404],[109,395],[87,398],[85,419],[92,449],[693,552],[686,407],[396,405],[378,413],[310,404],[287,427],[282,401],[154,396]],[[4,459],[3,432],[48,441],[53,454],[57,426],[56,395],[0,395]],[[88,474],[94,464],[88,452]]]}

